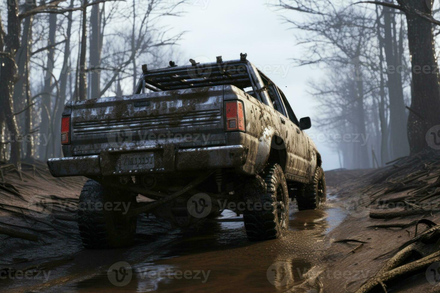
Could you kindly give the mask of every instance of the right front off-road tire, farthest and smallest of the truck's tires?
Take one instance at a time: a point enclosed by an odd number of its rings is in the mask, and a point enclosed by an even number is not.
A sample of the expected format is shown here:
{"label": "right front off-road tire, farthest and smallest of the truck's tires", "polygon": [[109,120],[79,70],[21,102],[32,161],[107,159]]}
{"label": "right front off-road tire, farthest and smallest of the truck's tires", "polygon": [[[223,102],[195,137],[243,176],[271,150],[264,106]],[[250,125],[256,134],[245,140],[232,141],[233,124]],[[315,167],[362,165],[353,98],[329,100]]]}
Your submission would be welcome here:
{"label": "right front off-road tire, farthest and smallest of the truck's tires", "polygon": [[304,184],[298,190],[297,204],[299,210],[320,209],[326,202],[326,176],[323,168],[317,167],[313,181]]}

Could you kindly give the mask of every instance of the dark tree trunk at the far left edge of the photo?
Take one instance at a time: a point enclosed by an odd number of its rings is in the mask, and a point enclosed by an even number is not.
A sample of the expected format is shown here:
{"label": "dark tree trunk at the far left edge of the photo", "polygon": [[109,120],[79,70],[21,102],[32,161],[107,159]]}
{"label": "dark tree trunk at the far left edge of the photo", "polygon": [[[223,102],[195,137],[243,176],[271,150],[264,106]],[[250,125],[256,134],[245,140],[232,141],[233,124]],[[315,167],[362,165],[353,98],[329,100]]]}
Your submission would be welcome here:
{"label": "dark tree trunk at the far left edge of the photo", "polygon": [[[0,25],[1,26],[1,25]],[[3,31],[3,28],[1,28]],[[7,129],[13,135],[11,137],[10,162],[18,169],[20,164],[20,136],[17,121],[14,116],[14,83],[17,78],[15,53],[20,47],[20,20],[18,18],[18,1],[7,1],[7,35],[4,38],[0,50],[6,54],[0,54],[0,105],[4,112]],[[3,46],[4,45],[4,46]],[[4,50],[3,50],[4,47]]]}

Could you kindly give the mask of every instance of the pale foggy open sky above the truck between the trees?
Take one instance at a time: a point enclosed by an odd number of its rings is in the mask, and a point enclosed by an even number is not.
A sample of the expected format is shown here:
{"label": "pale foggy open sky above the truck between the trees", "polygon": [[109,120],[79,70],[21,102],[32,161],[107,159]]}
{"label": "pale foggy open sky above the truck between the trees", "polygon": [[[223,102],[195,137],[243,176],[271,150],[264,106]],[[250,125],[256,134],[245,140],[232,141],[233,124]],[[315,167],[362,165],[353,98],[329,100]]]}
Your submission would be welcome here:
{"label": "pale foggy open sky above the truck between the trees", "polygon": [[[168,0],[175,3],[177,0]],[[298,119],[310,116],[316,121],[317,103],[307,93],[307,82],[319,80],[323,70],[313,66],[294,67],[290,58],[301,58],[304,48],[295,45],[297,33],[284,23],[282,16],[299,18],[293,11],[275,11],[268,4],[276,0],[189,0],[183,4],[187,11],[183,17],[168,18],[172,32],[188,31],[180,46],[178,56],[173,60],[193,58],[197,62],[239,59],[240,53],[247,53],[248,60],[262,70],[286,94]],[[172,60],[173,57],[170,57]],[[184,65],[184,64],[178,64]],[[166,64],[164,64],[164,67]],[[324,170],[339,168],[337,153],[328,147],[323,134],[316,127],[307,130],[315,139],[323,157]]]}

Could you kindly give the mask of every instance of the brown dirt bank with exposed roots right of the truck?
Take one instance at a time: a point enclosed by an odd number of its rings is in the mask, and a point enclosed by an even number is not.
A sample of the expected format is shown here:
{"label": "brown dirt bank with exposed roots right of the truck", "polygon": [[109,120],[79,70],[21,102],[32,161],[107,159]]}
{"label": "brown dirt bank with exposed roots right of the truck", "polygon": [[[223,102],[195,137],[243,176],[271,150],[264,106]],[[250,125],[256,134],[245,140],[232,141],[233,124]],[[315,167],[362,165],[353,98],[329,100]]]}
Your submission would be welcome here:
{"label": "brown dirt bank with exposed roots right of the truck", "polygon": [[348,216],[329,233],[332,245],[309,282],[323,292],[439,292],[440,156],[327,178]]}

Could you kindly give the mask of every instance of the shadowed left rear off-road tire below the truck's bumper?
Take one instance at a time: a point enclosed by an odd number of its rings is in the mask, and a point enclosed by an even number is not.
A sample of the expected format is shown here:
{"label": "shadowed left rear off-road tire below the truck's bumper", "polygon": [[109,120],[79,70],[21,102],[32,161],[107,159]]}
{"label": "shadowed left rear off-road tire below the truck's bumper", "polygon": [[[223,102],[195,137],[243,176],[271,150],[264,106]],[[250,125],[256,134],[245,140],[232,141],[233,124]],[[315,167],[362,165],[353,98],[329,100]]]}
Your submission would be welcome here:
{"label": "shadowed left rear off-road tire below the truck's bumper", "polygon": [[[114,208],[104,208],[107,202],[112,203]],[[136,204],[136,197],[124,196],[92,179],[84,184],[79,199],[77,219],[85,248],[110,249],[132,243],[136,234],[136,217],[128,217],[124,208],[128,203],[130,206]]]}

